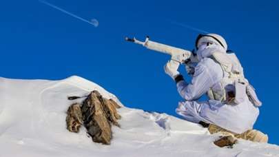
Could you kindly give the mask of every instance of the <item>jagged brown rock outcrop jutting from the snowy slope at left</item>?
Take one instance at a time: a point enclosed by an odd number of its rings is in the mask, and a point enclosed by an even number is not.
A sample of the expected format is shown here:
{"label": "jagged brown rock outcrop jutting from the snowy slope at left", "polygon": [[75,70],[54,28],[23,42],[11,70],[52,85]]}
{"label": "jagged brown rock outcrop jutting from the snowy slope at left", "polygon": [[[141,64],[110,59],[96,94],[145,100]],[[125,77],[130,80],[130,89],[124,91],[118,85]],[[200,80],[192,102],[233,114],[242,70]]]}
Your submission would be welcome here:
{"label": "jagged brown rock outcrop jutting from the snowy slope at left", "polygon": [[95,90],[87,96],[82,105],[73,104],[69,107],[67,128],[70,132],[79,132],[81,125],[77,124],[83,124],[94,142],[109,145],[112,139],[112,125],[119,127],[117,120],[121,116],[116,111],[119,107],[115,101],[103,98]]}

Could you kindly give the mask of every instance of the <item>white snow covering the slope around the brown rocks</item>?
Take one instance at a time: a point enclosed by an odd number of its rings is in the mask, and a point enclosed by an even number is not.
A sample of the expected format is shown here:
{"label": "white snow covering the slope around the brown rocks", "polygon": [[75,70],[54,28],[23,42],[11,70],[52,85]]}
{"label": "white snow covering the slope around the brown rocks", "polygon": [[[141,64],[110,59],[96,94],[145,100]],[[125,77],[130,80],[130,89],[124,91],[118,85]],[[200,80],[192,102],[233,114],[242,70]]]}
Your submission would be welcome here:
{"label": "white snow covering the slope around the brown rocks", "polygon": [[121,107],[121,127],[112,127],[111,145],[93,143],[83,127],[68,132],[65,117],[76,101],[103,87],[79,76],[61,81],[0,78],[0,157],[17,156],[279,156],[279,147],[240,140],[233,149],[216,147],[200,125],[167,114]]}

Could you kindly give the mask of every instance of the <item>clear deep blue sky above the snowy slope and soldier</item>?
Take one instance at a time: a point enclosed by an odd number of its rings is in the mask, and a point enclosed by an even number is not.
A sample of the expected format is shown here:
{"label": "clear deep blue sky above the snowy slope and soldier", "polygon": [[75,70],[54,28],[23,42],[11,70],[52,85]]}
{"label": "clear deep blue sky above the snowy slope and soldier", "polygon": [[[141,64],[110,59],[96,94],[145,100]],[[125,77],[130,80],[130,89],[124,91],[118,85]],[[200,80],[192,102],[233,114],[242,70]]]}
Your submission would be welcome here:
{"label": "clear deep blue sky above the snowy slope and soldier", "polygon": [[56,80],[79,75],[116,94],[128,107],[177,116],[174,109],[182,98],[163,71],[169,56],[124,41],[125,36],[149,35],[192,50],[198,32],[171,22],[176,21],[227,39],[263,102],[255,128],[279,144],[277,1],[48,2],[84,19],[98,19],[99,27],[36,0],[3,1],[0,76]]}

